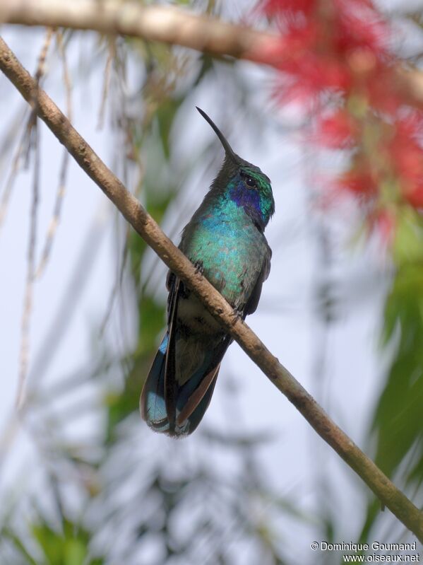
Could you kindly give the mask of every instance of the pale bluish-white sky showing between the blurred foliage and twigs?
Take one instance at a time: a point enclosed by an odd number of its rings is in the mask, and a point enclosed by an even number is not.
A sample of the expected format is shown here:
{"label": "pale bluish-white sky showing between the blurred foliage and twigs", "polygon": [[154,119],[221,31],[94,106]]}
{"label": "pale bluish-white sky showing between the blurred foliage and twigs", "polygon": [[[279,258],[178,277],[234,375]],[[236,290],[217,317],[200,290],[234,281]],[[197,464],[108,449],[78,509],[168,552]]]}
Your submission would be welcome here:
{"label": "pale bluish-white sky showing between the blurred foliage and twigs", "polygon": [[[42,43],[40,30],[4,28],[4,39],[16,52],[18,58],[30,71],[35,69],[35,61]],[[98,108],[101,99],[102,74],[104,62],[82,80],[78,76],[78,57],[83,41],[90,42],[93,49],[95,41],[87,36],[78,36],[71,43],[68,59],[73,76],[73,124],[88,143],[111,167],[117,153],[116,136],[109,127],[97,129]],[[246,76],[268,79],[270,71],[244,64]],[[60,79],[59,79],[60,77]],[[267,80],[267,84],[269,81]],[[61,83],[61,67],[53,56],[49,60],[49,76],[44,84],[47,93],[64,109],[64,88]],[[278,115],[269,102],[269,89],[256,93],[257,100],[269,106],[272,119],[286,117]],[[190,146],[210,143],[213,132],[195,110],[195,105],[203,107],[218,126],[222,94],[215,98],[213,91],[203,92],[198,99],[187,100],[184,115],[179,117],[177,132],[181,155],[189,153]],[[230,100],[227,101],[230,104]],[[6,120],[16,116],[16,112],[26,110],[26,105],[16,89],[0,76],[0,105]],[[263,286],[261,303],[257,312],[247,319],[247,323],[258,334],[280,361],[311,392],[316,400],[328,411],[330,416],[360,447],[364,447],[369,416],[381,387],[383,371],[378,352],[379,323],[383,297],[388,285],[389,266],[378,245],[366,249],[352,243],[355,235],[355,213],[347,206],[333,213],[330,222],[330,270],[322,270],[318,260],[316,229],[319,216],[312,209],[310,186],[318,165],[325,174],[335,170],[337,158],[316,156],[311,149],[304,149],[296,134],[274,128],[266,130],[263,138],[249,139],[246,124],[237,119],[234,108],[234,130],[229,135],[234,151],[247,161],[259,165],[273,182],[276,214],[266,231],[266,237],[273,248],[270,278]],[[63,148],[54,136],[42,125],[42,180],[41,200],[38,218],[37,257],[44,242],[44,236],[51,218],[56,184]],[[217,146],[215,146],[217,147]],[[222,151],[216,155],[216,165],[221,162]],[[10,163],[0,161],[1,184],[8,174]],[[205,191],[213,178],[213,170],[197,173],[191,180],[187,193],[183,194],[186,218],[179,231],[189,219],[192,211],[200,204]],[[11,204],[3,228],[0,231],[0,332],[1,332],[1,377],[0,430],[6,426],[13,412],[18,380],[18,356],[20,350],[20,323],[23,310],[23,293],[26,275],[26,255],[28,247],[28,226],[30,210],[32,174],[20,173],[13,190]],[[1,194],[1,192],[0,192]],[[186,194],[189,194],[187,197]],[[42,384],[49,387],[56,380],[78,371],[91,358],[97,328],[104,316],[109,295],[116,276],[116,262],[121,242],[115,240],[112,229],[114,211],[96,185],[71,161],[67,192],[64,201],[61,223],[54,240],[51,260],[42,279],[35,285],[34,310],[30,332],[30,367],[37,358],[40,347],[49,332],[52,320],[63,300],[64,291],[73,274],[81,247],[87,246],[87,234],[97,226],[97,249],[90,261],[90,276],[84,286],[81,298],[75,308],[67,313],[71,316],[66,336],[56,351],[52,363],[44,374]],[[177,214],[175,213],[173,217]],[[163,228],[172,231],[174,220],[167,217]],[[93,242],[94,236],[90,240]],[[174,231],[174,243],[179,236]],[[323,373],[313,375],[314,361],[321,347],[321,325],[316,315],[313,293],[314,281],[330,279],[338,296],[338,319],[330,326],[326,339],[327,363]],[[155,274],[165,296],[165,267],[161,265]],[[127,308],[126,308],[127,309]],[[131,314],[124,318],[126,331],[122,329],[122,318],[114,310],[105,339],[110,347],[119,350],[130,341]],[[95,347],[95,345],[94,345]],[[232,409],[226,389],[235,385],[241,392]],[[96,419],[78,417],[78,410],[90,407],[93,390],[85,387],[81,397],[73,400],[68,407],[69,417],[75,419],[69,433],[78,438],[89,438],[96,431]],[[87,409],[88,413],[89,410]],[[237,414],[234,421],[233,413]],[[302,508],[316,508],[316,480],[322,474],[330,477],[331,488],[338,505],[340,531],[344,537],[339,541],[352,541],[362,521],[359,508],[364,508],[367,487],[347,468],[306,423],[294,407],[276,390],[270,381],[246,357],[237,344],[232,344],[225,356],[218,385],[203,426],[225,430],[237,425],[237,431],[270,431],[272,441],[260,450],[263,474],[273,482],[281,495],[289,494],[299,501]],[[167,456],[172,453],[172,440],[150,433],[139,420],[139,434],[150,434],[153,450]],[[195,434],[194,434],[195,436]],[[184,440],[187,449],[195,458],[198,454],[198,440],[189,437]],[[190,447],[192,445],[192,448]],[[1,445],[4,447],[4,444]],[[198,455],[200,457],[201,455]],[[230,462],[216,460],[216,465],[230,465]],[[30,470],[30,473],[28,473]],[[19,432],[13,438],[4,465],[0,468],[1,492],[11,493],[16,489],[16,477],[20,477],[19,489],[37,481],[37,455],[32,438]],[[395,523],[388,511],[383,516],[383,530]],[[284,525],[290,532],[287,537],[287,552],[292,562],[315,564],[319,560],[328,563],[328,556],[319,552],[313,554],[310,543],[320,541],[313,527],[304,525]],[[378,540],[376,538],[376,540]],[[243,561],[241,560],[240,563]]]}

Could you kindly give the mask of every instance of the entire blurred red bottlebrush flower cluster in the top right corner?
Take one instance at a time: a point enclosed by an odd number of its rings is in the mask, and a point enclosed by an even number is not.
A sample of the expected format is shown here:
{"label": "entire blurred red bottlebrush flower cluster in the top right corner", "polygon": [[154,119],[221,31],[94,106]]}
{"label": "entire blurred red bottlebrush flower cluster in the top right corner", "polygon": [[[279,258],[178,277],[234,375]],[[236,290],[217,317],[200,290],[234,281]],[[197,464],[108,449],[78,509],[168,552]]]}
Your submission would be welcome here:
{"label": "entire blurred red bottlebrush flower cluster in the top right corner", "polygon": [[371,0],[262,0],[258,7],[280,31],[261,53],[280,71],[278,99],[317,103],[324,117],[314,138],[350,148],[338,189],[372,203],[369,220],[377,214],[378,225],[393,225],[398,204],[423,207],[423,113],[398,80],[388,24]]}

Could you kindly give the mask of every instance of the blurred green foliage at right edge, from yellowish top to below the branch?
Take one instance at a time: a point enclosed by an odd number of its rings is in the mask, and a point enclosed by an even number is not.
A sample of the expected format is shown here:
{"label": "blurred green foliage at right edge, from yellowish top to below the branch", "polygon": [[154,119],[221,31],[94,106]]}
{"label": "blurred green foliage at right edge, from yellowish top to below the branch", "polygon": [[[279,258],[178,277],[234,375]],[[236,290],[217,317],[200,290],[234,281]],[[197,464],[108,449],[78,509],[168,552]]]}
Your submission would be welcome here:
{"label": "blurred green foliage at right edge, from yellowish top to below the branch", "polygon": [[[369,438],[376,465],[418,501],[423,482],[423,218],[418,212],[405,209],[398,215],[393,258],[383,317],[383,349],[390,362]],[[369,501],[362,542],[371,539],[380,510],[379,501]]]}

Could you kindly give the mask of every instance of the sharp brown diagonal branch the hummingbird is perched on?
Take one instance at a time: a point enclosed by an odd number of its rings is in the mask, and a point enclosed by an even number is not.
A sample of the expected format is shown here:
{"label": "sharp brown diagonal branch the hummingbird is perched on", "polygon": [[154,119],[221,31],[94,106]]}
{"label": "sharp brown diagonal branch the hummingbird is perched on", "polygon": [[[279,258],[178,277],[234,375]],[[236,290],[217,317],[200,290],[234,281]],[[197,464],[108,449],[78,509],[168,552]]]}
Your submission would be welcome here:
{"label": "sharp brown diagonal branch the hummingbird is perched on", "polygon": [[[30,102],[35,82],[0,38],[0,69]],[[316,432],[350,465],[370,487],[381,503],[423,542],[423,514],[376,467],[357,445],[328,417],[311,395],[250,330],[234,317],[230,305],[213,286],[196,272],[193,264],[175,247],[138,200],[126,190],[100,157],[71,125],[49,96],[38,91],[37,112],[75,161],[112,200],[136,232],[155,250],[163,262],[198,295],[210,313],[244,349],[271,382],[294,404]]]}

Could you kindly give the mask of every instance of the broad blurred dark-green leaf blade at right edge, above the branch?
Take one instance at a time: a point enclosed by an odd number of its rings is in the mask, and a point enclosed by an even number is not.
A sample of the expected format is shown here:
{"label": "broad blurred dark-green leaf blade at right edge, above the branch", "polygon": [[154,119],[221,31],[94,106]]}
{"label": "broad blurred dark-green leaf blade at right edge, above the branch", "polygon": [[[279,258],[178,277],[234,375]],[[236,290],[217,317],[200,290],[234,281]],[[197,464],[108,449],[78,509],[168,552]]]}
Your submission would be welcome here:
{"label": "broad blurred dark-green leaf blade at right edge, above the branch", "polygon": [[[399,269],[386,300],[384,342],[393,349],[374,414],[376,465],[388,476],[423,436],[423,264]],[[419,448],[417,459],[422,460]]]}

